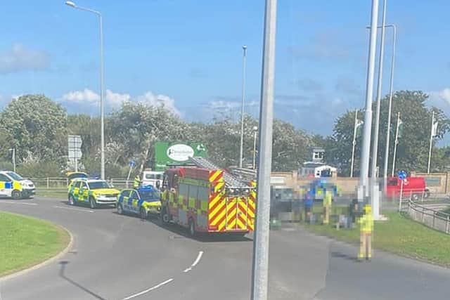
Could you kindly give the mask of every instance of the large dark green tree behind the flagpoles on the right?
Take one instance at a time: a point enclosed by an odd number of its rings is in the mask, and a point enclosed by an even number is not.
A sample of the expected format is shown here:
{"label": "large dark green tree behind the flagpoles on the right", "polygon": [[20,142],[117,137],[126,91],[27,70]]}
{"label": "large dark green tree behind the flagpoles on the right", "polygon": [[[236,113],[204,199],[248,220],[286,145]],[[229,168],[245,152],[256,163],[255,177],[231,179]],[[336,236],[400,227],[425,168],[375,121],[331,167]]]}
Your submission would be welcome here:
{"label": "large dark green tree behind the flagpoles on the right", "polygon": [[[426,171],[428,164],[428,147],[430,143],[431,117],[432,111],[435,112],[435,118],[439,122],[438,133],[435,141],[439,141],[446,131],[449,131],[449,119],[442,110],[436,107],[428,108],[426,100],[428,95],[422,91],[397,91],[392,98],[392,119],[390,135],[390,159],[388,169],[392,166],[392,153],[394,149],[395,129],[397,126],[397,112],[400,112],[400,119],[404,124],[403,136],[399,138],[397,148],[396,169],[405,169],[407,171]],[[380,133],[378,138],[378,166],[383,170],[386,130],[387,130],[387,110],[389,97],[386,96],[381,101],[380,110]],[[373,103],[375,112],[375,103]],[[361,111],[364,116],[364,110]],[[372,132],[374,130],[375,117],[373,117]],[[352,155],[354,127],[354,111],[347,111],[335,122],[333,143],[328,144],[326,152],[327,157],[338,166],[342,166],[344,174],[349,174],[350,159]],[[373,134],[372,134],[373,138]],[[355,150],[355,174],[359,171],[359,157],[361,155],[362,137],[356,140]]]}

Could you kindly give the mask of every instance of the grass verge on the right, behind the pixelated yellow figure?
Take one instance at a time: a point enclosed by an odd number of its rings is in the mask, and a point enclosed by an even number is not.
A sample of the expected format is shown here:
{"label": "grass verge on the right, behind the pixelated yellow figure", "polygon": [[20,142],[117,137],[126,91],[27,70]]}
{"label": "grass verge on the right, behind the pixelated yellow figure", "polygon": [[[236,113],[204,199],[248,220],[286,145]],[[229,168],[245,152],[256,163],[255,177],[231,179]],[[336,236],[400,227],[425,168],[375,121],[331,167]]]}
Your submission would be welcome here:
{"label": "grass verge on the right, behind the pixelated yellow figure", "polygon": [[[375,222],[373,247],[402,256],[450,267],[450,236],[413,221],[398,212],[385,212],[388,221]],[[338,240],[359,243],[359,229],[336,230],[331,226],[305,225],[305,228]]]}

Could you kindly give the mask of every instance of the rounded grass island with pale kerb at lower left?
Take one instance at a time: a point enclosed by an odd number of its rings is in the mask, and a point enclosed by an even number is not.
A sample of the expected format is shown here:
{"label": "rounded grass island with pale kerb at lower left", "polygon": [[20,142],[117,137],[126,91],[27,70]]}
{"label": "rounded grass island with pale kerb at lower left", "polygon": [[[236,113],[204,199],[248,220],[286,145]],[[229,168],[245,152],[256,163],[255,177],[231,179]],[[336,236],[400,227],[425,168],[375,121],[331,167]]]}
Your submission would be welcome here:
{"label": "rounded grass island with pale kerb at lower left", "polygon": [[0,276],[55,256],[70,242],[66,230],[29,216],[0,211]]}

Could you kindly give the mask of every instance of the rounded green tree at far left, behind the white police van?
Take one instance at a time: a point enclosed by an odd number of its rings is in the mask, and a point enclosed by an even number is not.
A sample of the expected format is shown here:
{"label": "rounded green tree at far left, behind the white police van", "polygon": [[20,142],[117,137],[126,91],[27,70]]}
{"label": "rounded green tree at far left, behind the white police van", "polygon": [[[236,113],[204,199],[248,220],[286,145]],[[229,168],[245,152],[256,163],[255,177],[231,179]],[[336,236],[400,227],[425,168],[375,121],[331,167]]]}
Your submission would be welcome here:
{"label": "rounded green tree at far left, behind the white police van", "polygon": [[0,126],[19,161],[61,160],[67,151],[65,110],[44,95],[12,100],[1,112]]}

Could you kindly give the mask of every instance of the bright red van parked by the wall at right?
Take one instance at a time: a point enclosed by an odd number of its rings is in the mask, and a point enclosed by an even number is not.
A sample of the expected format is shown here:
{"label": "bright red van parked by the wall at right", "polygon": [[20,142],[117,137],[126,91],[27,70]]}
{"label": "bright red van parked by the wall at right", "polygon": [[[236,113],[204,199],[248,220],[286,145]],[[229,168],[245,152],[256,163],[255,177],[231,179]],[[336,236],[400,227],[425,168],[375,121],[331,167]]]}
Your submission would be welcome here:
{"label": "bright red van parked by the wall at right", "polygon": [[[398,177],[387,178],[386,195],[391,198],[400,197],[401,180]],[[430,191],[425,185],[423,177],[406,177],[403,183],[402,198],[411,198],[412,200],[420,200],[428,198]]]}

